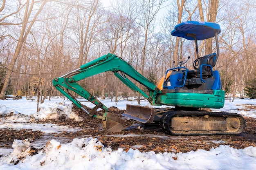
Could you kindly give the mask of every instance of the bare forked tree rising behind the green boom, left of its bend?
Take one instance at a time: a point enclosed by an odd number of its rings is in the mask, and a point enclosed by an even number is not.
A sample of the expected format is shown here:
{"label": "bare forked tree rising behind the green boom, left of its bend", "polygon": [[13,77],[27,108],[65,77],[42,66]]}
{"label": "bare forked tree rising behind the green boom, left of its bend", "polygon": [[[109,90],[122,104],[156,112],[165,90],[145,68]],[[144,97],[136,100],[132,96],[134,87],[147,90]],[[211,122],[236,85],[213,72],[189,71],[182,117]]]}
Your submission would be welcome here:
{"label": "bare forked tree rising behind the green boom, left of its bend", "polygon": [[99,0],[76,0],[72,13],[73,17],[70,20],[74,21],[74,41],[78,42],[79,49],[78,65],[82,65],[83,62],[87,62],[92,43],[101,31],[99,25],[104,11],[99,7]]}

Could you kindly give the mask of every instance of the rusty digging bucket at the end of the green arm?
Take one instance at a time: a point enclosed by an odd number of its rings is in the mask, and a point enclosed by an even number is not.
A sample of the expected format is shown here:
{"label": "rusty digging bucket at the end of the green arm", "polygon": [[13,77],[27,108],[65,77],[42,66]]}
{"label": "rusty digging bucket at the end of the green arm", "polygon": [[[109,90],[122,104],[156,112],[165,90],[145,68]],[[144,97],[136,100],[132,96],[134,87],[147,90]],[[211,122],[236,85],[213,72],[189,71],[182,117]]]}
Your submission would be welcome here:
{"label": "rusty digging bucket at the end of the green arm", "polygon": [[106,120],[103,120],[103,126],[108,132],[119,132],[131,126],[131,120],[125,120],[111,113],[107,113]]}

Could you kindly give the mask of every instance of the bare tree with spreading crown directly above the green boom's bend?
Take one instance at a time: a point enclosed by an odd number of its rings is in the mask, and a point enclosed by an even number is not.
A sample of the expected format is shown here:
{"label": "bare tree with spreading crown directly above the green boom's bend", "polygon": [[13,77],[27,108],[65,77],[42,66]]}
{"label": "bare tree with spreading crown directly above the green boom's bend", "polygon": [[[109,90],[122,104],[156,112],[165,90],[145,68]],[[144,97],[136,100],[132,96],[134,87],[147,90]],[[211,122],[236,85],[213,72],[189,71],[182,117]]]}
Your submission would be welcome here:
{"label": "bare tree with spreading crown directly above the green boom's bend", "polygon": [[109,19],[104,33],[104,41],[110,53],[123,57],[127,43],[139,26],[135,23],[138,13],[134,12],[138,7],[134,0],[128,0],[116,1],[112,8],[112,11],[108,12]]}

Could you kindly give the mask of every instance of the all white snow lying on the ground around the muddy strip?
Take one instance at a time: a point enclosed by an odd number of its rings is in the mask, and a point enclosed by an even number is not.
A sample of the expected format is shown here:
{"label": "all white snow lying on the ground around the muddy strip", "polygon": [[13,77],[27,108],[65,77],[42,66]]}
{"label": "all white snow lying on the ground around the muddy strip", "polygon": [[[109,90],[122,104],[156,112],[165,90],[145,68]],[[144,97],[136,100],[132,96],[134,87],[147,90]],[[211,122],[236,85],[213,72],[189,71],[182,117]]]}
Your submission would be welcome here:
{"label": "all white snow lying on the ground around the muddy strip", "polygon": [[[79,99],[82,104],[93,107],[93,104]],[[110,99],[102,99],[107,107],[115,106]],[[136,101],[120,100],[116,107],[126,109],[126,104],[137,104]],[[36,119],[50,119],[58,114],[79,120],[72,112],[70,101],[61,98],[45,100],[36,113],[36,101],[0,100],[0,128],[41,130],[45,134],[56,134],[62,131],[75,132],[79,128],[57,126],[54,124],[36,124]],[[150,106],[141,101],[142,106]],[[245,105],[256,106],[256,99],[234,99],[225,101],[225,106],[213,111],[238,113],[244,117],[256,118],[254,109],[244,109]],[[10,114],[11,116],[6,116]],[[189,137],[188,137],[189,138]],[[219,144],[224,141],[212,141]],[[31,139],[14,140],[12,148],[0,148],[0,170],[256,170],[256,147],[235,149],[220,145],[210,151],[197,150],[187,153],[174,152],[140,152],[133,146],[127,152],[122,148],[113,151],[105,147],[97,138],[84,137],[69,142],[51,139],[32,142]],[[34,149],[38,153],[33,155]]]}

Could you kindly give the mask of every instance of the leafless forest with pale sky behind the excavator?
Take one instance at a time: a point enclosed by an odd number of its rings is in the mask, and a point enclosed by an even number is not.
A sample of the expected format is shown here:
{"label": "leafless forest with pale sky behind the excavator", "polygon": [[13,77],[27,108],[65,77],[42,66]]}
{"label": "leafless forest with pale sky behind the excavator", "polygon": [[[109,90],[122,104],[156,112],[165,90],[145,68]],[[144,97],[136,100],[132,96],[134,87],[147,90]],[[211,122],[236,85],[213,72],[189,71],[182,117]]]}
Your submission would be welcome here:
{"label": "leafless forest with pale sky behind the excavator", "polygon": [[[61,96],[52,80],[112,53],[157,83],[173,61],[193,67],[194,43],[173,37],[185,21],[216,22],[220,72],[227,95],[245,97],[256,77],[256,1],[246,0],[0,0],[0,98]],[[199,56],[216,50],[199,41]],[[176,65],[177,66],[177,65]],[[80,82],[96,97],[137,95],[112,72]]]}

